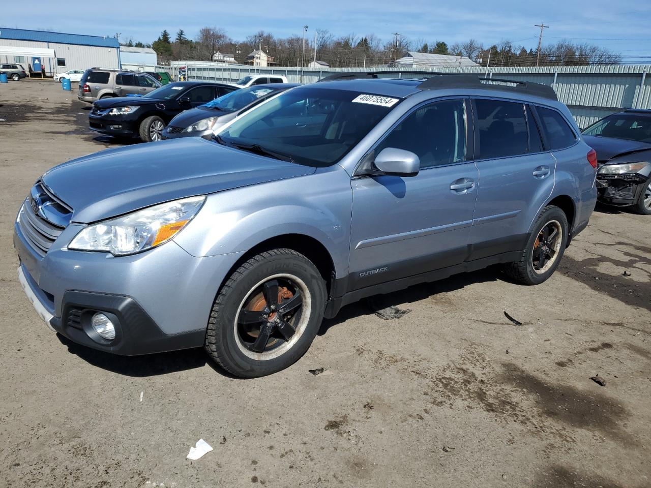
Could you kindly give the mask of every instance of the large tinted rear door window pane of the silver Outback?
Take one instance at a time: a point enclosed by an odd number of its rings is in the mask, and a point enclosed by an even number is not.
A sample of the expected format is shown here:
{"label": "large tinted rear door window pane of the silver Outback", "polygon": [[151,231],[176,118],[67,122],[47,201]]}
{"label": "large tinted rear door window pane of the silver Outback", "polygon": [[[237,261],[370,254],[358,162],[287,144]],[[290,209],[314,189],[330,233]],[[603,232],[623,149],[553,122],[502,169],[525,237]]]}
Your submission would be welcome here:
{"label": "large tinted rear door window pane of the silver Outback", "polygon": [[523,103],[475,99],[479,159],[518,156],[529,148]]}

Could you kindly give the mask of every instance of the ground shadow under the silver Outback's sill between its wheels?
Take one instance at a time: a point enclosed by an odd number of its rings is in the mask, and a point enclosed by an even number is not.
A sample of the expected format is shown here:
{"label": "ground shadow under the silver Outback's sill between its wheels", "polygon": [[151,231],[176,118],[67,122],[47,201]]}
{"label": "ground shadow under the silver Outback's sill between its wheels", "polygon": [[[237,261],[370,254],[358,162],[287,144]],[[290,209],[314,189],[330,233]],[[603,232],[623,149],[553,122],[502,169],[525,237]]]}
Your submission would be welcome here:
{"label": "ground shadow under the silver Outback's sill between its wheels", "polygon": [[349,319],[373,315],[379,308],[388,308],[391,306],[400,307],[408,303],[434,298],[439,293],[461,290],[469,284],[486,283],[497,280],[515,283],[501,272],[500,265],[494,265],[471,273],[453,275],[445,280],[413,285],[404,290],[395,291],[394,293],[374,295],[367,299],[362,299],[355,303],[351,303],[350,305],[346,305],[339,311],[339,314],[337,314],[336,317],[325,319],[318,331],[318,335],[322,336],[326,334],[331,327],[340,325]]}

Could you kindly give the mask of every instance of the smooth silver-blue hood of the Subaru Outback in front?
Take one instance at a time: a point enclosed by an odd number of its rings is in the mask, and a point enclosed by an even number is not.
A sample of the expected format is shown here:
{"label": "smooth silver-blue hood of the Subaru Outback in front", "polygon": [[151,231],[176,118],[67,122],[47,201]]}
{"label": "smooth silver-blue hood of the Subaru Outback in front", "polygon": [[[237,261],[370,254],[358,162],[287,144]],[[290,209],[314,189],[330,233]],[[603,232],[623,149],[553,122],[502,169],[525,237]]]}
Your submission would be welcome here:
{"label": "smooth silver-blue hood of the Subaru Outback in front", "polygon": [[187,137],[73,159],[46,172],[42,180],[72,207],[72,222],[91,223],[177,198],[314,171],[201,137]]}

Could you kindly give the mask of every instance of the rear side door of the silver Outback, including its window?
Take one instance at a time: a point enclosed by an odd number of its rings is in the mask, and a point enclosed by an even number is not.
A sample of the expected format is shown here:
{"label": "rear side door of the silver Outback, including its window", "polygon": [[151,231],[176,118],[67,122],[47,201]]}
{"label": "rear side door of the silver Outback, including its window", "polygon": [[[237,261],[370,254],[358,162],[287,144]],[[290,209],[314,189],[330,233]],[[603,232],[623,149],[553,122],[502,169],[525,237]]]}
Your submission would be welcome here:
{"label": "rear side door of the silver Outback, including its window", "polygon": [[551,195],[556,166],[524,103],[474,98],[473,113],[479,183],[469,260],[524,248],[540,202]]}

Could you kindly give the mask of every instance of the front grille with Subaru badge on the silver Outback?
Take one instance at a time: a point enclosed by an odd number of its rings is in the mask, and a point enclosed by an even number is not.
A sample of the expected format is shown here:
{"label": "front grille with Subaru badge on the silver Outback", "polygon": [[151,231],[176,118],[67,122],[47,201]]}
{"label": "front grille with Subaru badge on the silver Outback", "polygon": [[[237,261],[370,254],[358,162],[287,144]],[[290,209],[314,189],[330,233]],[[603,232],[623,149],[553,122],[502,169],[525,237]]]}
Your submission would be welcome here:
{"label": "front grille with Subaru badge on the silver Outback", "polygon": [[72,210],[49,192],[42,182],[32,187],[18,214],[18,226],[38,254],[45,256],[70,223]]}

